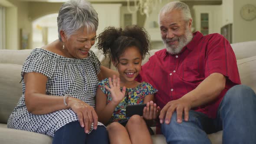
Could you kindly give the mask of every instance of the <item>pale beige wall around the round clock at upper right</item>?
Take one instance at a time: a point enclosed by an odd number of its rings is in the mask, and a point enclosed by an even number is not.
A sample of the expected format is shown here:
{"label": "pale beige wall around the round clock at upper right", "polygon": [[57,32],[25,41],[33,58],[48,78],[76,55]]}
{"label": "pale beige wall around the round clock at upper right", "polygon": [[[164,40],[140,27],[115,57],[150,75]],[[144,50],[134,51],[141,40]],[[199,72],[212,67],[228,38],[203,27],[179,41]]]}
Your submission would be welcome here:
{"label": "pale beige wall around the round clock at upper right", "polygon": [[246,21],[240,15],[241,8],[248,3],[256,7],[256,0],[233,1],[233,43],[256,40],[256,19]]}

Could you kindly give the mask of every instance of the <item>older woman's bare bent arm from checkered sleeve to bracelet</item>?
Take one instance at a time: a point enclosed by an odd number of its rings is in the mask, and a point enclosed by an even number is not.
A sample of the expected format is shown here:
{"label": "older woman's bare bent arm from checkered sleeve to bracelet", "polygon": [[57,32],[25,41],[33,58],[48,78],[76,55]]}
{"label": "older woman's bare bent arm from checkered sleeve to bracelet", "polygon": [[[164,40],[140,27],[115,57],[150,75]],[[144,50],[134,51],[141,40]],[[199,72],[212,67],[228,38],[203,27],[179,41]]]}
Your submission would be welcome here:
{"label": "older woman's bare bent arm from checkered sleeve to bracelet", "polygon": [[[63,96],[46,95],[47,80],[45,75],[38,72],[24,73],[26,108],[34,115],[69,109],[64,105]],[[66,101],[68,102],[69,98]]]}

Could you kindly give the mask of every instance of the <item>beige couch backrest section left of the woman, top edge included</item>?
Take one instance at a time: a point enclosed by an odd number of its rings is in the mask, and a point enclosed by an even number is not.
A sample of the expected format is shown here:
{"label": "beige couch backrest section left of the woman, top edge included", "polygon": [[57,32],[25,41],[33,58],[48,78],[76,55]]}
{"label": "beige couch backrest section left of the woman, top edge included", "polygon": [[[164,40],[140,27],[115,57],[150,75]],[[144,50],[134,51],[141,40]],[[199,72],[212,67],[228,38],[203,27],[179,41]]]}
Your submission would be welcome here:
{"label": "beige couch backrest section left of the woman, top edge included", "polygon": [[22,95],[21,69],[31,51],[0,50],[0,123],[7,123]]}

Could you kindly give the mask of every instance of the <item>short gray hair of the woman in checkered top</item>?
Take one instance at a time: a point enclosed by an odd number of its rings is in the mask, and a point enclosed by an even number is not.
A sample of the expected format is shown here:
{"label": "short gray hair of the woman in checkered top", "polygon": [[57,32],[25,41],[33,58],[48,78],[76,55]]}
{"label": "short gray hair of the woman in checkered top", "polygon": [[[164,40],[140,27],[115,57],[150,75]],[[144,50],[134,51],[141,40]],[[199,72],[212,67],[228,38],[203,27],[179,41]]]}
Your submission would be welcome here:
{"label": "short gray hair of the woman in checkered top", "polygon": [[91,3],[85,0],[70,0],[63,3],[57,18],[59,40],[62,41],[60,31],[63,30],[69,38],[81,27],[89,31],[98,29],[98,13]]}

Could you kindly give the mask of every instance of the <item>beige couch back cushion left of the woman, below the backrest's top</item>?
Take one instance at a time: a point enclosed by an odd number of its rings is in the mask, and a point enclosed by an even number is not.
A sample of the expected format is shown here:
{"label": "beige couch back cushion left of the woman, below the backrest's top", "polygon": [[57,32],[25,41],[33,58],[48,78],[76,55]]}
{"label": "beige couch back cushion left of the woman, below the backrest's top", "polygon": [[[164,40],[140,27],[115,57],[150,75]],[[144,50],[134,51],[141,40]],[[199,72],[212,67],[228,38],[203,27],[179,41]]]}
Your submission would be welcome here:
{"label": "beige couch back cushion left of the woman, below the backrest's top", "polygon": [[21,69],[22,65],[0,63],[0,123],[7,123],[22,95]]}

